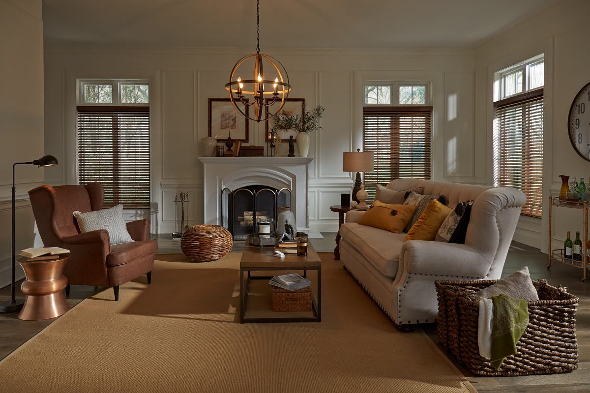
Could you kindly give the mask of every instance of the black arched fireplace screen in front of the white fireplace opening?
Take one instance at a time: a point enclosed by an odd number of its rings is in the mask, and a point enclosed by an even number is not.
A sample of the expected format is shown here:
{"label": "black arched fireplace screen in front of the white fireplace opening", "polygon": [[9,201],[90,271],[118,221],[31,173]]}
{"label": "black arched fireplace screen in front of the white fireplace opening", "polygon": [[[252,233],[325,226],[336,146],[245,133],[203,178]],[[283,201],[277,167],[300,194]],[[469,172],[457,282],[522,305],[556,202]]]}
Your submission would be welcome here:
{"label": "black arched fireplace screen in front of the white fireplace opening", "polygon": [[290,189],[255,185],[237,190],[221,190],[222,225],[234,239],[245,239],[248,233],[256,233],[257,223],[277,222],[278,207],[292,207]]}

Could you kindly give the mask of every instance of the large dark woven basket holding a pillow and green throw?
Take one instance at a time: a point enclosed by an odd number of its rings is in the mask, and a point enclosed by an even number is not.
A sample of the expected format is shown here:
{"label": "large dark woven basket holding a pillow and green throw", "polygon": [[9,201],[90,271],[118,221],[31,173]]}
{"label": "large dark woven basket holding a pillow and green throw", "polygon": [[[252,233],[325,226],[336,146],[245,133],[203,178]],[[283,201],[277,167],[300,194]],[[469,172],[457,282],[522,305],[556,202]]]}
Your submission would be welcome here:
{"label": "large dark woven basket holding a pillow and green throw", "polygon": [[435,281],[438,293],[438,339],[468,371],[486,377],[558,374],[578,368],[576,307],[578,298],[565,288],[534,281],[539,299],[529,302],[529,326],[496,370],[479,354],[479,300],[473,293],[497,280]]}

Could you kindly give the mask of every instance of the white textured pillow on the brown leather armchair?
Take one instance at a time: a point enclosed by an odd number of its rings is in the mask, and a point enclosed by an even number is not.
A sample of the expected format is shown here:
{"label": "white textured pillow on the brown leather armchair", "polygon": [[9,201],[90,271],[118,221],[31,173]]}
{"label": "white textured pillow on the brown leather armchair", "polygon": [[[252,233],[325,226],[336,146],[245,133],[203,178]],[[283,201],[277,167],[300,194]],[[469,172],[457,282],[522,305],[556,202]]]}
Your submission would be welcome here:
{"label": "white textured pillow on the brown leather armchair", "polygon": [[123,220],[123,205],[119,204],[110,209],[97,210],[96,212],[74,212],[78,221],[80,232],[90,232],[98,229],[105,229],[109,232],[109,239],[112,245],[119,243],[133,242],[131,235],[127,232],[125,220]]}

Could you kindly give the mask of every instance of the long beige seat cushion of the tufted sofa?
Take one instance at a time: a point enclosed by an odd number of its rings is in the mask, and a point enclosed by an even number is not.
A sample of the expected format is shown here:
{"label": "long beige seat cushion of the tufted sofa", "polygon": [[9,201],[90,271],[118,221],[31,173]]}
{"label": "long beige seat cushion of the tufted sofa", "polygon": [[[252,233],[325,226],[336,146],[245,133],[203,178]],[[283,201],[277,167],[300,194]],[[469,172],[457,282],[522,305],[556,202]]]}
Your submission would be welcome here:
{"label": "long beige seat cushion of the tufted sofa", "polygon": [[340,236],[384,276],[395,278],[398,272],[399,250],[405,242],[405,233],[391,233],[358,223],[345,223]]}

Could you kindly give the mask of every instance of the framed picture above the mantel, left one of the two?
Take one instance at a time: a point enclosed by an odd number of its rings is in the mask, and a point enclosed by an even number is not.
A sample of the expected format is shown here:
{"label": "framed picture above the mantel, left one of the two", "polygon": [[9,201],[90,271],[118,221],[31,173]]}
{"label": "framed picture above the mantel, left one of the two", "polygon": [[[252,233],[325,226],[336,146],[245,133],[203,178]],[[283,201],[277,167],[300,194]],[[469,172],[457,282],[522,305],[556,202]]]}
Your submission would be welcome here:
{"label": "framed picture above the mantel, left one of the two", "polygon": [[[244,112],[248,114],[248,107]],[[209,98],[209,137],[218,142],[230,136],[234,141],[248,142],[248,120],[231,105],[230,98]]]}

